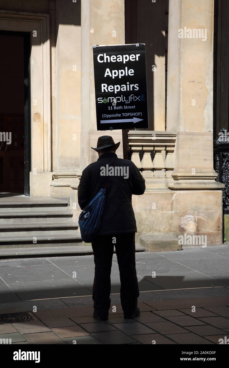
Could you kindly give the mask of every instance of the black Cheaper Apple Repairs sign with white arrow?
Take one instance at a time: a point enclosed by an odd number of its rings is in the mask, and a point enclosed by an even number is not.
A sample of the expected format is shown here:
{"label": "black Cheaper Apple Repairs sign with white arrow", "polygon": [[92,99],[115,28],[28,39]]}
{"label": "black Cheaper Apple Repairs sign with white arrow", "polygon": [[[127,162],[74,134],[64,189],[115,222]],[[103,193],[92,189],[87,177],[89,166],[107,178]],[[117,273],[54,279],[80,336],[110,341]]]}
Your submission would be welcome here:
{"label": "black Cheaper Apple Repairs sign with white arrow", "polygon": [[93,46],[97,130],[148,128],[144,43]]}

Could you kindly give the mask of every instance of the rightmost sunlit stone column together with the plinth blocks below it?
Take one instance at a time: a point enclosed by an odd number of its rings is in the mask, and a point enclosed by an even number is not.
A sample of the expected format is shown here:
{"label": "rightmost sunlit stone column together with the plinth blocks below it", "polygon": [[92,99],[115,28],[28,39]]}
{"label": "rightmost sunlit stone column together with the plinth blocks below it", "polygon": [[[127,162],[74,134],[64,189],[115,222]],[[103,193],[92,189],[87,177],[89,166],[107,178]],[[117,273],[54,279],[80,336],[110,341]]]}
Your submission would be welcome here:
{"label": "rightmost sunlit stone column together with the plinth blocks below it", "polygon": [[170,231],[183,246],[222,244],[224,184],[213,169],[213,21],[213,0],[169,0],[167,130],[176,132]]}

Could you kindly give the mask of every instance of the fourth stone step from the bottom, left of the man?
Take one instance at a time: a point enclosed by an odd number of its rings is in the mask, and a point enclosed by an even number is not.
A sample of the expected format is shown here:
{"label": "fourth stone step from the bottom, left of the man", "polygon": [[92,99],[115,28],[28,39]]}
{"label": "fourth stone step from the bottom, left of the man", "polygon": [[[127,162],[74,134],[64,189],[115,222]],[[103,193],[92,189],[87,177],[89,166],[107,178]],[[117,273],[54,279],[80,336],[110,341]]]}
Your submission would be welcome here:
{"label": "fourth stone step from the bottom, left of the man", "polygon": [[37,222],[66,222],[72,221],[73,212],[71,210],[33,210],[29,212],[14,210],[0,211],[0,224],[18,224],[18,223],[37,223]]}

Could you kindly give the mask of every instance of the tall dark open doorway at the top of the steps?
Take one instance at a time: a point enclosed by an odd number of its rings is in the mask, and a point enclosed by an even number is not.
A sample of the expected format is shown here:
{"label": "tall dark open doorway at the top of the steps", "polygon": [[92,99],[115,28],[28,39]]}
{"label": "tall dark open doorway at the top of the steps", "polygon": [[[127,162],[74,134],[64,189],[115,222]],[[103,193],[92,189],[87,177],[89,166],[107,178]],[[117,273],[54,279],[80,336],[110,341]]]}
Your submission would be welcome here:
{"label": "tall dark open doorway at the top of the steps", "polygon": [[30,34],[0,31],[0,192],[29,195]]}

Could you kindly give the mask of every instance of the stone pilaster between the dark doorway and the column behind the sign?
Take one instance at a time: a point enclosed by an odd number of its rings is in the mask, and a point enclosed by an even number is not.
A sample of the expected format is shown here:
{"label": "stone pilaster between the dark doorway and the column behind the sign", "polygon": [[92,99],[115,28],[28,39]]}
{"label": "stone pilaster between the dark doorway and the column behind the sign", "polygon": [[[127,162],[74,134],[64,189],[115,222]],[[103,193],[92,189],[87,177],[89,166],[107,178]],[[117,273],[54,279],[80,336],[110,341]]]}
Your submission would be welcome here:
{"label": "stone pilaster between the dark doorway and the column behind the sign", "polygon": [[50,11],[56,22],[51,33],[53,180],[50,197],[68,198],[70,184],[77,180],[80,170],[80,2],[50,1]]}

